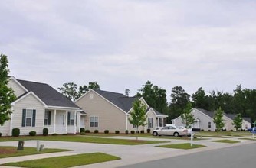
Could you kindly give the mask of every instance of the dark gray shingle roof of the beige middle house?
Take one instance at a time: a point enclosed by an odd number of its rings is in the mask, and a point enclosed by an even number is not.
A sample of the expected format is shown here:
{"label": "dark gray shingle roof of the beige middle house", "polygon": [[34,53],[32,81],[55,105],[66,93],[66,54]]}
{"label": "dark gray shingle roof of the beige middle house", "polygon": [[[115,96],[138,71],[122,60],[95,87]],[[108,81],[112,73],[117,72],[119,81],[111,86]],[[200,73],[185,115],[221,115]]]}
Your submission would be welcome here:
{"label": "dark gray shingle roof of the beige middle house", "polygon": [[126,112],[130,111],[130,109],[133,107],[133,102],[136,99],[136,97],[127,97],[126,95],[117,92],[108,92],[96,89],[94,91]]}

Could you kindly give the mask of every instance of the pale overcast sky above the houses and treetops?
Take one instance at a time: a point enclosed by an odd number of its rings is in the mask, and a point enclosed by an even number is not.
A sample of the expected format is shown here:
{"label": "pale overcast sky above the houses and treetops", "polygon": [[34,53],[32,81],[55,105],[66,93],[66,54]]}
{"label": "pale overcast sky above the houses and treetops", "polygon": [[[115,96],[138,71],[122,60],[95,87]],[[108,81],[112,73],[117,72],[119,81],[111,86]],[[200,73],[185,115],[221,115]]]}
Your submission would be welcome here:
{"label": "pale overcast sky above the houses and treetops", "polygon": [[255,89],[255,0],[0,1],[10,75],[136,94]]}

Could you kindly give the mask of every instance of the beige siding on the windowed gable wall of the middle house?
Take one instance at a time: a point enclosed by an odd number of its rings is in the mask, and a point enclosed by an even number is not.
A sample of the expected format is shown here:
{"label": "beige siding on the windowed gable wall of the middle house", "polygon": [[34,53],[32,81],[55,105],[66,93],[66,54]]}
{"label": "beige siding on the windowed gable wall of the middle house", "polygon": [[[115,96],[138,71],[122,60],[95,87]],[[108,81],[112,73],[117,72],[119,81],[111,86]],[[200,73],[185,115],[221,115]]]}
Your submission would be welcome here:
{"label": "beige siding on the windowed gable wall of the middle house", "polygon": [[[87,92],[84,97],[76,102],[76,105],[87,113],[85,129],[90,131],[99,130],[100,132],[109,130],[110,133],[114,133],[116,130],[120,133],[126,131],[126,114],[94,91]],[[97,128],[90,127],[90,117],[93,116],[99,118]]]}

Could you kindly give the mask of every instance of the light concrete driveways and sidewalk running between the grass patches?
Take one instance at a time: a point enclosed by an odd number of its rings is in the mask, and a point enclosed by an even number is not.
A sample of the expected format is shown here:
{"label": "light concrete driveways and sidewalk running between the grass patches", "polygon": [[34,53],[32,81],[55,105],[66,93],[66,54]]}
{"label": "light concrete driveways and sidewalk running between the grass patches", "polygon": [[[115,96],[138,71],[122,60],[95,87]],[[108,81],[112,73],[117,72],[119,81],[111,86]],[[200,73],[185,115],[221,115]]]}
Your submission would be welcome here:
{"label": "light concrete driveways and sidewalk running between the grass patches", "polygon": [[[110,137],[110,138],[135,138],[135,137]],[[61,152],[61,153],[46,153],[46,154],[38,154],[24,157],[8,157],[0,159],[0,164],[10,163],[10,162],[18,162],[24,160],[34,160],[34,159],[42,159],[47,157],[60,157],[67,155],[74,155],[79,153],[94,153],[94,152],[102,152],[111,154],[117,157],[120,157],[121,160],[110,161],[107,163],[96,163],[87,166],[77,166],[77,168],[82,167],[90,167],[90,168],[98,168],[98,167],[118,167],[118,166],[126,166],[134,163],[143,163],[151,160],[159,160],[169,157],[181,156],[189,153],[196,153],[205,150],[214,150],[223,147],[233,147],[237,145],[243,144],[251,144],[255,143],[255,141],[247,141],[238,139],[238,137],[231,137],[225,139],[231,139],[235,141],[240,141],[238,144],[225,144],[225,143],[216,143],[212,142],[213,140],[218,140],[223,138],[211,138],[207,140],[194,141],[194,144],[203,144],[206,147],[197,148],[193,150],[179,150],[179,149],[170,149],[170,148],[162,148],[156,147],[159,144],[144,144],[144,145],[113,145],[113,144],[93,144],[93,143],[78,143],[78,142],[63,142],[63,141],[41,141],[41,144],[44,144],[44,147],[47,148],[61,148],[61,149],[69,149],[73,151]],[[179,144],[179,143],[189,143],[189,140],[172,140],[165,138],[148,138],[148,137],[139,137],[139,140],[158,140],[158,141],[166,141],[163,144]],[[37,141],[25,141],[25,147],[36,147]],[[9,141],[9,142],[0,142],[0,146],[17,146],[18,141]]]}

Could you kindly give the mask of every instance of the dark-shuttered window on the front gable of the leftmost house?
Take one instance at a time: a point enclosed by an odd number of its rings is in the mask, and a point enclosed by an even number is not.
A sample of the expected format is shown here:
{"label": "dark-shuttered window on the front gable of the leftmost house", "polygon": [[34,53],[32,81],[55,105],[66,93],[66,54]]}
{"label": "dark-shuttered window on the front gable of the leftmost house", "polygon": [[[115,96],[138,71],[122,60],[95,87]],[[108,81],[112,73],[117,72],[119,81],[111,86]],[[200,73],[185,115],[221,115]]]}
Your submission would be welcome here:
{"label": "dark-shuttered window on the front gable of the leftmost house", "polygon": [[35,126],[36,110],[22,109],[22,127],[34,127]]}

